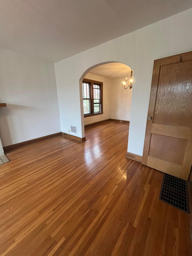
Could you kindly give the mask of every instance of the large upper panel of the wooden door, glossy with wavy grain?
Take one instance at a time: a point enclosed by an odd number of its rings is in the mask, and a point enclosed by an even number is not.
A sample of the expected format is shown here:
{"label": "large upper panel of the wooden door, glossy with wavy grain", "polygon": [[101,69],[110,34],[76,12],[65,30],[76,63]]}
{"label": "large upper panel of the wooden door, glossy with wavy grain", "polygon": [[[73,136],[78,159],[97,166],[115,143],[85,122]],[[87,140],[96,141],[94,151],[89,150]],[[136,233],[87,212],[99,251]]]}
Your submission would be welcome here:
{"label": "large upper panel of the wooden door, glossy with wavy grain", "polygon": [[191,127],[192,60],[161,66],[153,123]]}

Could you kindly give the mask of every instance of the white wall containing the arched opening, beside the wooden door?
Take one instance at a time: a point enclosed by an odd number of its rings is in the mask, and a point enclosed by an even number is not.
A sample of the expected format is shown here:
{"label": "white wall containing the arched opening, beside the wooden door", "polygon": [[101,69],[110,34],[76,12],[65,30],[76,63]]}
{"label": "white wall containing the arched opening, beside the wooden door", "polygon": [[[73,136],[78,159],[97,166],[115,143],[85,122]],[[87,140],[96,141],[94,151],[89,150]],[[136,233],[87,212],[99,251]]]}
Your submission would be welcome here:
{"label": "white wall containing the arched opening, beside the wooden door", "polygon": [[122,62],[134,70],[128,152],[142,155],[153,61],[191,51],[191,27],[189,9],[55,63],[61,131],[75,122],[77,136],[84,137],[82,78],[100,63]]}

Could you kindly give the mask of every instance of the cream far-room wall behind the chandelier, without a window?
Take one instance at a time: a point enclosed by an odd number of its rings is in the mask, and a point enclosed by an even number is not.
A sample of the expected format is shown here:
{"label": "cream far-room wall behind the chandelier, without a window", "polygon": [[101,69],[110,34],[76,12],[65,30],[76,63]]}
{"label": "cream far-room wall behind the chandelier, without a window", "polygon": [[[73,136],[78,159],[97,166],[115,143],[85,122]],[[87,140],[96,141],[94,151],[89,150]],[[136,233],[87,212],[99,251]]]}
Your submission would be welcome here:
{"label": "cream far-room wall behind the chandelier, without a window", "polygon": [[123,89],[125,77],[111,79],[110,118],[130,121],[132,89]]}

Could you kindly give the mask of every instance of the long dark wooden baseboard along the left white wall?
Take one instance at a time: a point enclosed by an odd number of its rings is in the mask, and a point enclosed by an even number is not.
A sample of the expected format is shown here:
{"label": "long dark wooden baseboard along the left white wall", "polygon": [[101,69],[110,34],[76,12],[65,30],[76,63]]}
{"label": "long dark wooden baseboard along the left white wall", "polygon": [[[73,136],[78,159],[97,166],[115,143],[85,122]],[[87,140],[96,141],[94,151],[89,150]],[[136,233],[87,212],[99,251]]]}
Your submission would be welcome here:
{"label": "long dark wooden baseboard along the left white wall", "polygon": [[23,142],[20,142],[20,143],[5,146],[5,147],[3,147],[3,149],[4,149],[4,152],[7,152],[7,151],[10,151],[10,150],[13,150],[13,149],[18,149],[18,148],[21,148],[21,147],[24,147],[24,146],[42,141],[42,140],[48,140],[48,139],[58,137],[58,136],[61,136],[61,132],[54,133],[54,134],[49,134],[49,135],[46,135],[46,136],[43,136],[43,137],[40,137],[40,138],[36,138],[36,139],[33,139],[33,140],[26,140],[26,141],[23,141]]}

